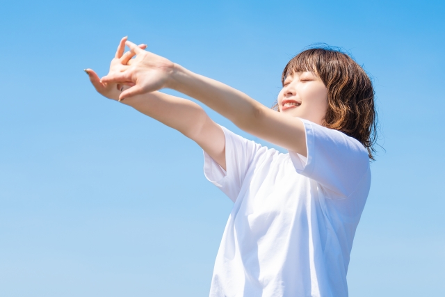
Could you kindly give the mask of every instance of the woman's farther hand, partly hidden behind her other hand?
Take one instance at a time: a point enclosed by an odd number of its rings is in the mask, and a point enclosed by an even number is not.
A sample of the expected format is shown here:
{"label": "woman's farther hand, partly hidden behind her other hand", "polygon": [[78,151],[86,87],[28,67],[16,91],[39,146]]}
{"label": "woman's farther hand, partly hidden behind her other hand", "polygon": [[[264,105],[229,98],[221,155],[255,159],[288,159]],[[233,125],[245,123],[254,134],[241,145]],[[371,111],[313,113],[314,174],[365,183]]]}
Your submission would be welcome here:
{"label": "woman's farther hand, partly hidden behind her other hand", "polygon": [[[108,74],[115,74],[124,71],[127,67],[129,67],[129,65],[132,64],[133,59],[131,58],[135,54],[134,51],[127,51],[127,53],[124,54],[126,41],[127,37],[124,37],[122,38],[122,40],[120,40],[118,50],[116,51],[115,57],[111,61],[110,71]],[[142,50],[147,48],[147,45],[139,45],[138,48]],[[85,72],[88,74],[88,77],[90,77],[92,86],[95,87],[97,93],[103,95],[104,97],[107,97],[108,99],[120,101],[119,96],[122,93],[122,90],[124,90],[124,86],[134,86],[134,83],[131,83],[129,81],[120,83],[104,83],[99,79],[94,70],[86,69]]]}

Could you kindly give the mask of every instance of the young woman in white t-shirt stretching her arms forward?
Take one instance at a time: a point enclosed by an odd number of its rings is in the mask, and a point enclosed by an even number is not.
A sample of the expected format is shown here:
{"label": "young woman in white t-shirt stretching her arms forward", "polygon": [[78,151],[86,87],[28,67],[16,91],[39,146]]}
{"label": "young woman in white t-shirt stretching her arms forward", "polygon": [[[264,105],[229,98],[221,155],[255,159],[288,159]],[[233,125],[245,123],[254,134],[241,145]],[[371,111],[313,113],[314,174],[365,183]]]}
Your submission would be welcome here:
{"label": "young woman in white t-shirt stretching her arms forward", "polygon": [[[131,51],[124,54],[125,43]],[[102,81],[86,72],[105,97],[200,145],[207,179],[234,201],[210,296],[348,296],[375,140],[373,87],[364,70],[339,51],[303,51],[284,68],[277,105],[268,109],[143,48],[123,38]],[[161,88],[199,100],[289,153],[234,134],[199,105],[156,92]]]}

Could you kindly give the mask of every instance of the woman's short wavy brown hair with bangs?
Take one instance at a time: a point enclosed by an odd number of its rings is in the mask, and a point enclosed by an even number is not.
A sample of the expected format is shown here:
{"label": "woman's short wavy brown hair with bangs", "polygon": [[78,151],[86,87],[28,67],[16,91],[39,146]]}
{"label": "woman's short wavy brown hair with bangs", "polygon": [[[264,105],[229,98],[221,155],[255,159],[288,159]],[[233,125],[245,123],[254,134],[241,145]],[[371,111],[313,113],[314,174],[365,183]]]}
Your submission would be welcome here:
{"label": "woman's short wavy brown hair with bangs", "polygon": [[[377,113],[371,79],[350,56],[339,49],[316,47],[293,57],[282,73],[314,72],[327,88],[327,111],[323,126],[357,139],[374,160]],[[278,104],[273,109],[279,111]]]}

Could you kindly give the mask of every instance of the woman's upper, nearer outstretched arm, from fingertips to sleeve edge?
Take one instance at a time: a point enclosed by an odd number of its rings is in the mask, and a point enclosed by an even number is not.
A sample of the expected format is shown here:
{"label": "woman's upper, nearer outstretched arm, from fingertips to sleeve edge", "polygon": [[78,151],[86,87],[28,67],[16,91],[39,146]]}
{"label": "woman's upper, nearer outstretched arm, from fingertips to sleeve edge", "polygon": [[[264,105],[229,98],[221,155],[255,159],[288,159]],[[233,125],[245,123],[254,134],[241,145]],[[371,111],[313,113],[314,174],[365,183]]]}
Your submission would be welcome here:
{"label": "woman's upper, nearer outstretched arm, from fingertips to sleeve edge", "polygon": [[298,118],[284,116],[224,83],[195,74],[168,59],[144,51],[127,41],[137,56],[122,72],[102,78],[104,82],[131,81],[135,84],[120,95],[133,95],[172,88],[206,104],[232,120],[244,131],[307,156],[305,127]]}

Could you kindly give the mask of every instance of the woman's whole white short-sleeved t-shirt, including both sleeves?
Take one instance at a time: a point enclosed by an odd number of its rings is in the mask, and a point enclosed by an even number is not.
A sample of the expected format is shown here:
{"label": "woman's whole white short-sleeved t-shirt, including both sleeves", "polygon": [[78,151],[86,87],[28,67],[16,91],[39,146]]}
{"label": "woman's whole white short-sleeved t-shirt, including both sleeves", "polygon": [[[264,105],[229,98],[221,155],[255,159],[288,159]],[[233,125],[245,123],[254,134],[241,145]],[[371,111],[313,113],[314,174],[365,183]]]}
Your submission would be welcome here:
{"label": "woman's whole white short-sleeved t-shirt, including both sleeves", "polygon": [[204,152],[204,174],[235,202],[210,296],[348,296],[346,272],[371,184],[368,152],[302,120],[307,158],[225,129],[227,172]]}

